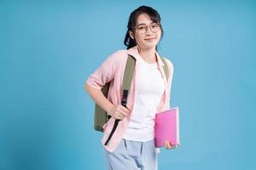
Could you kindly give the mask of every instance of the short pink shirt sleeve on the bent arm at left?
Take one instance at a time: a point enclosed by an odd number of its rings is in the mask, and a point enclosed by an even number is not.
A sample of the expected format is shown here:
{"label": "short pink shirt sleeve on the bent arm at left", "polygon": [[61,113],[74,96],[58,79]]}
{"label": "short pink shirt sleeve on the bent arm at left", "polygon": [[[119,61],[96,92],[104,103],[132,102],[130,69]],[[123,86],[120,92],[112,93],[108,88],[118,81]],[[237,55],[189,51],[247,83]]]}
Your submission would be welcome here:
{"label": "short pink shirt sleeve on the bent arm at left", "polygon": [[89,86],[101,89],[106,83],[113,80],[115,72],[115,54],[111,54],[102,65],[86,80]]}

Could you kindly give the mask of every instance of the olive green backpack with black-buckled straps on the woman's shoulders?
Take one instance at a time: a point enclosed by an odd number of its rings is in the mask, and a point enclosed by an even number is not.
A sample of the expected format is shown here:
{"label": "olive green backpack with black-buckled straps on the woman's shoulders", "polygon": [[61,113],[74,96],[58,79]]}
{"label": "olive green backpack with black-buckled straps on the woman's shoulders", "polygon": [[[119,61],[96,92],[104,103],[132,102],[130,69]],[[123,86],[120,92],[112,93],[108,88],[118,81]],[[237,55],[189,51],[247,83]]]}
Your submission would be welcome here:
{"label": "olive green backpack with black-buckled straps on the woman's shoulders", "polygon": [[[168,71],[168,65],[166,63],[166,59],[164,59],[163,57],[160,57],[160,59],[164,63],[164,71],[165,71],[166,79],[167,79],[166,81],[168,81],[169,71]],[[123,98],[122,98],[121,103],[124,106],[126,106],[127,97],[128,97],[128,94],[129,94],[129,91],[130,91],[130,88],[131,88],[131,79],[132,79],[132,76],[133,76],[135,63],[136,63],[136,59],[134,57],[132,57],[131,55],[129,55],[128,58],[127,58],[127,61],[126,61],[126,65],[125,65],[125,73],[124,73],[124,79],[123,79],[123,95],[122,95]],[[109,84],[110,84],[110,82],[106,83],[105,86],[102,88],[102,94],[104,94],[104,96],[106,98],[108,98]],[[104,111],[101,106],[99,106],[97,104],[95,105],[94,129],[96,131],[103,132],[102,126],[106,122],[108,122],[108,120],[110,118],[111,118],[111,116],[108,115],[107,111]],[[116,125],[113,127],[113,132],[115,131],[115,128],[117,127],[118,122],[119,122],[119,120],[116,120],[116,123],[115,123]],[[110,135],[110,138],[113,135],[113,132]]]}

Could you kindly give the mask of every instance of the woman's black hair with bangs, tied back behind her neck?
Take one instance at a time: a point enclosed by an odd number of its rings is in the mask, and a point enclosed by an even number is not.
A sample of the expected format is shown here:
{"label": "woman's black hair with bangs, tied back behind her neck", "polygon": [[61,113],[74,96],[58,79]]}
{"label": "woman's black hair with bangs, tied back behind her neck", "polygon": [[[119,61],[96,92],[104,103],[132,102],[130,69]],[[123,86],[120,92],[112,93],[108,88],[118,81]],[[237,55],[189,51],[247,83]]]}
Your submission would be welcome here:
{"label": "woman's black hair with bangs, tied back behind her neck", "polygon": [[[130,14],[130,17],[129,17],[127,31],[126,31],[125,40],[124,40],[124,43],[125,43],[125,46],[127,47],[127,49],[132,48],[137,45],[136,40],[132,39],[130,37],[129,31],[135,32],[134,27],[137,26],[137,17],[140,14],[148,14],[150,20],[152,20],[155,23],[160,23],[160,20],[161,20],[160,14],[158,14],[158,12],[154,8],[151,8],[148,6],[140,6],[139,8],[132,11],[132,13]],[[163,37],[164,31],[163,31],[162,26],[160,26],[160,29],[162,32],[161,37],[160,37],[160,39],[161,39]],[[157,49],[157,47],[156,47],[156,49]]]}

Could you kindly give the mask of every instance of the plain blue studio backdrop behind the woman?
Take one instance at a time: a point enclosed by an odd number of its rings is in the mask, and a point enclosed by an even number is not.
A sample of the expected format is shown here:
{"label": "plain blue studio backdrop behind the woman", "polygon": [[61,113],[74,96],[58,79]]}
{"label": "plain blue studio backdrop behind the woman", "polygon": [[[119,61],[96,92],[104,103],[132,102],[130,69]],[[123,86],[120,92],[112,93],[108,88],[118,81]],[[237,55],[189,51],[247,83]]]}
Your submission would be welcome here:
{"label": "plain blue studio backdrop behind the woman", "polygon": [[156,8],[172,60],[176,150],[164,169],[256,169],[253,1],[0,1],[0,169],[105,169],[84,82],[123,39],[131,11]]}

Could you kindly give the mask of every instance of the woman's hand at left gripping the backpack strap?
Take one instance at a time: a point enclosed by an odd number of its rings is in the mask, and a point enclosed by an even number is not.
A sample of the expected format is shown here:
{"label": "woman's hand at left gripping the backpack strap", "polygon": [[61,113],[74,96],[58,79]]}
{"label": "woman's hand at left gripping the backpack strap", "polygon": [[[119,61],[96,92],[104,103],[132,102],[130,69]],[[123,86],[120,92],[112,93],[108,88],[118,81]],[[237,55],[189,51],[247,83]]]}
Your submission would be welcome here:
{"label": "woman's hand at left gripping the backpack strap", "polygon": [[131,110],[123,105],[114,105],[113,109],[110,111],[110,115],[118,120],[123,120],[125,116],[128,116],[129,114],[131,114]]}

